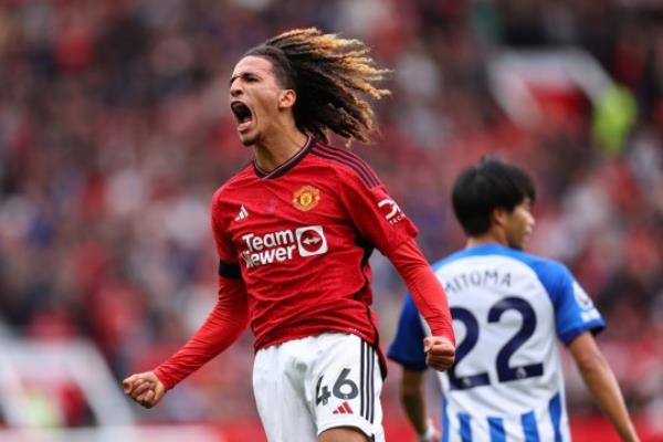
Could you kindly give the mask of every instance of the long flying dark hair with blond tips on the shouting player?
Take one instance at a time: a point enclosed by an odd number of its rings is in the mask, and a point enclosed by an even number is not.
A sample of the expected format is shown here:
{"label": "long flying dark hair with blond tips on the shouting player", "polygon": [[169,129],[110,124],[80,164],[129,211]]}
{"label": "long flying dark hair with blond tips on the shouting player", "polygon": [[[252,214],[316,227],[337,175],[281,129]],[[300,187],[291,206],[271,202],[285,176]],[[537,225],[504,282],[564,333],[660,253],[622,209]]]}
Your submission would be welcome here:
{"label": "long flying dark hair with blond tips on the shouting player", "polygon": [[359,40],[323,34],[316,28],[295,29],[249,50],[244,56],[270,59],[282,87],[297,93],[293,114],[299,130],[324,143],[328,131],[362,143],[370,140],[373,112],[359,94],[379,99],[389,90],[378,88],[389,70],[379,69]]}

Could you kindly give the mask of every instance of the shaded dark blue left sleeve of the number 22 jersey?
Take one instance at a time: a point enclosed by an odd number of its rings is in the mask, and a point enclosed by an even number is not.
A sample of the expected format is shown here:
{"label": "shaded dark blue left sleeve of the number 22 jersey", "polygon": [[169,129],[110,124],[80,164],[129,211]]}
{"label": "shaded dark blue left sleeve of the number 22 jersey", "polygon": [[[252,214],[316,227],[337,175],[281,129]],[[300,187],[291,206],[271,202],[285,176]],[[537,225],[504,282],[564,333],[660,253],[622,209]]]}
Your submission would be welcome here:
{"label": "shaded dark blue left sleeve of the number 22 jersey", "polygon": [[404,368],[423,371],[428,368],[423,352],[423,327],[419,312],[408,295],[403,301],[398,330],[389,346],[387,357]]}

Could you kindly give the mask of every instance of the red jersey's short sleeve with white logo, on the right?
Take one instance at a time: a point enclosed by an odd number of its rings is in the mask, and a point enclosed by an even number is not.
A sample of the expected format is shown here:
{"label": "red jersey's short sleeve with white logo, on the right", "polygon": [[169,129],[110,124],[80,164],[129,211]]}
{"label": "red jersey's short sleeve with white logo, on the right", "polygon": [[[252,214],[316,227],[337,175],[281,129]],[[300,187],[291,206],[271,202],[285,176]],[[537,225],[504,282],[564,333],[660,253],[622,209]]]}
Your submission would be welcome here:
{"label": "red jersey's short sleeve with white logo, on the right", "polygon": [[339,180],[339,185],[340,198],[357,230],[383,255],[417,236],[417,227],[377,178],[370,181],[348,173],[347,179]]}

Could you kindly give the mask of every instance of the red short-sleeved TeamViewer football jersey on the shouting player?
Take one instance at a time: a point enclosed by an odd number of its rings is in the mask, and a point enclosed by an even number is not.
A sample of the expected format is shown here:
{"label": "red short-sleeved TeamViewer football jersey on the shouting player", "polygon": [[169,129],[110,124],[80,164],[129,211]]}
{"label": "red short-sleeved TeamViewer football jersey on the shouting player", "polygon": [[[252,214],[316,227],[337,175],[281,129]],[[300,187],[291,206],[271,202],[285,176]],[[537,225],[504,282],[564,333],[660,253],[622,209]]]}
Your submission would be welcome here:
{"label": "red short-sleeved TeamViewer football jersey on the shouting player", "polygon": [[254,161],[214,193],[212,223],[220,274],[245,283],[255,349],[325,332],[378,344],[368,257],[417,228],[357,155],[309,138],[271,172]]}

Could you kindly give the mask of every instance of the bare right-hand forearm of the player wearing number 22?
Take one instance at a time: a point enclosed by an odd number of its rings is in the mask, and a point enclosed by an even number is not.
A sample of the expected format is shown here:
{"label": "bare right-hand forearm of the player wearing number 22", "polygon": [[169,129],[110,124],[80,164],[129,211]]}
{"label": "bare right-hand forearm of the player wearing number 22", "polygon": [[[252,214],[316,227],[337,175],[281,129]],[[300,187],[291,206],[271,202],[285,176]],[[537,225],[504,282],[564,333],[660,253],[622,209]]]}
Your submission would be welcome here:
{"label": "bare right-hand forearm of the player wearing number 22", "polygon": [[568,348],[596,403],[608,417],[622,441],[640,441],[614,373],[591,333],[582,333]]}

